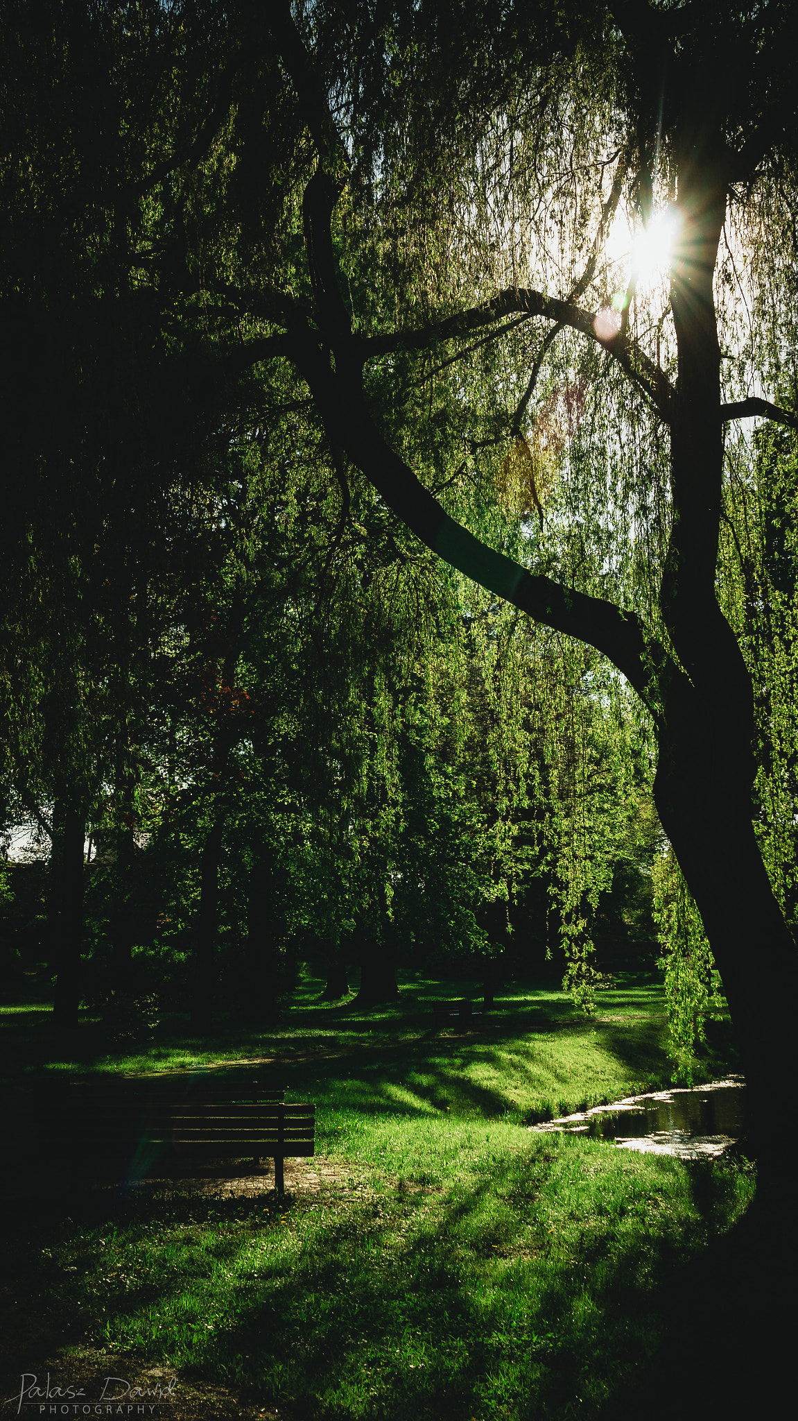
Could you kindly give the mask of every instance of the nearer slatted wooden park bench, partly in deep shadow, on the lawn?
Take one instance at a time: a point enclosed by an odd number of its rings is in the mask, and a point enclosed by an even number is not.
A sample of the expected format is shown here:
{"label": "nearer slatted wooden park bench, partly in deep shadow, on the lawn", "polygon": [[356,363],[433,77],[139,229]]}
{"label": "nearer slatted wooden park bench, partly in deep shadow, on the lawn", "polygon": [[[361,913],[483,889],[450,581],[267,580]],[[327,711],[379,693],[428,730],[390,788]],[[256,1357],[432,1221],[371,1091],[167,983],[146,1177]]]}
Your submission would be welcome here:
{"label": "nearer slatted wooden park bench, partly in deep shadow, on the lawn", "polygon": [[62,1127],[75,1177],[136,1182],[153,1172],[186,1175],[212,1161],[274,1160],[284,1192],[284,1160],[308,1157],[315,1144],[315,1106],[285,1104],[285,1091],[257,1086],[128,1077],[67,1091]]}

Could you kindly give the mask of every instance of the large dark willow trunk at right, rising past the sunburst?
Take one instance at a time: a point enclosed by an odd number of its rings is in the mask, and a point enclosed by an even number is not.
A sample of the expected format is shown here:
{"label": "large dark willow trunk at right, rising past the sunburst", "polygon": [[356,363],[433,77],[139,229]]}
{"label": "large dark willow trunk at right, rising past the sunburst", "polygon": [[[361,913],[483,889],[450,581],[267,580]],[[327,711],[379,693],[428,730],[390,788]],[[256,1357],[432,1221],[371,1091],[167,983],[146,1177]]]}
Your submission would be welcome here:
{"label": "large dark willow trunk at right, rising past the sunburst", "polygon": [[680,142],[673,524],[660,605],[686,675],[662,678],[655,800],[723,979],[748,1086],[748,1142],[764,1172],[778,1174],[775,1093],[792,1066],[797,955],[753,827],[751,678],[716,594],[723,441],[713,274],[726,180],[704,131],[686,124]]}

